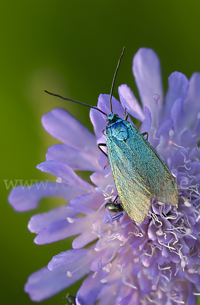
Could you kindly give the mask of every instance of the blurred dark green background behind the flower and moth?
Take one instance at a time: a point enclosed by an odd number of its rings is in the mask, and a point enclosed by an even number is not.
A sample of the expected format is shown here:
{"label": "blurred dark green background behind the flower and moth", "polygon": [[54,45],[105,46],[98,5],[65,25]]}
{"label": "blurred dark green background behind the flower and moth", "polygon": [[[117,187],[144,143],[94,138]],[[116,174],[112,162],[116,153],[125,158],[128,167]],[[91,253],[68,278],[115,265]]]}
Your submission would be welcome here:
{"label": "blurred dark green background behind the flower and moth", "polygon": [[[153,48],[161,60],[164,89],[174,71],[188,78],[200,71],[199,1],[67,1],[3,2],[1,23],[1,302],[31,304],[23,286],[31,272],[71,247],[62,240],[37,246],[27,229],[29,218],[63,201],[43,199],[37,211],[20,214],[7,202],[4,179],[48,179],[36,169],[47,147],[57,141],[42,128],[41,115],[63,107],[92,131],[89,109],[50,97],[44,89],[96,105],[110,93],[123,46],[125,55],[117,87],[135,92],[132,57],[140,47]],[[50,177],[53,179],[53,177]],[[65,292],[76,293],[76,288]],[[61,292],[43,304],[65,304]]]}

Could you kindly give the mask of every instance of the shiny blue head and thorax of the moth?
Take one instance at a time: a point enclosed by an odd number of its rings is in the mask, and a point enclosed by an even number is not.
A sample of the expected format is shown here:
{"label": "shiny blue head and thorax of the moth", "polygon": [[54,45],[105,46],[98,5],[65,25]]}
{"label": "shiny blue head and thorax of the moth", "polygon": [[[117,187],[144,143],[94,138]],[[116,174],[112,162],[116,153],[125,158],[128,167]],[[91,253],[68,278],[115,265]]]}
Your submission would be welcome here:
{"label": "shiny blue head and thorax of the moth", "polygon": [[128,130],[125,121],[117,114],[107,115],[108,126],[106,127],[106,134],[112,134],[119,141],[125,141],[128,137]]}

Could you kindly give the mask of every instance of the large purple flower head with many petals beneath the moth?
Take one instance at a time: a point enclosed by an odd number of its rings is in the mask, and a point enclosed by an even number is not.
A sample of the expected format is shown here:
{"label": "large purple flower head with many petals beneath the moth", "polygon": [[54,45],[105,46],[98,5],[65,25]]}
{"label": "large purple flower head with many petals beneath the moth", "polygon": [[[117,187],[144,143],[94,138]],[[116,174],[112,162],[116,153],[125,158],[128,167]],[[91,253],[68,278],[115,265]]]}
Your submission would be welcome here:
{"label": "large purple flower head with many petals beneath the moth", "polygon": [[[87,275],[76,296],[77,305],[195,305],[200,295],[200,74],[174,72],[163,99],[160,64],[151,49],[134,57],[133,72],[142,105],[127,85],[119,87],[121,104],[112,98],[113,112],[127,112],[143,123],[149,142],[169,166],[179,187],[178,206],[152,200],[141,224],[124,211],[109,209],[117,196],[107,158],[97,148],[106,116],[91,109],[95,135],[62,109],[45,114],[45,130],[64,144],[51,146],[42,171],[55,182],[13,190],[10,204],[18,211],[37,207],[46,196],[61,196],[70,205],[33,216],[28,224],[39,245],[78,235],[72,250],[52,258],[33,273],[25,291],[41,301]],[[159,95],[159,96],[158,96]],[[154,96],[154,101],[152,96]],[[160,98],[159,98],[160,97]],[[159,101],[158,101],[159,98]],[[110,113],[109,96],[100,95],[98,108]],[[92,184],[74,171],[93,171]],[[105,208],[105,205],[107,207]],[[119,200],[116,207],[120,207]],[[88,244],[92,245],[89,248]]]}

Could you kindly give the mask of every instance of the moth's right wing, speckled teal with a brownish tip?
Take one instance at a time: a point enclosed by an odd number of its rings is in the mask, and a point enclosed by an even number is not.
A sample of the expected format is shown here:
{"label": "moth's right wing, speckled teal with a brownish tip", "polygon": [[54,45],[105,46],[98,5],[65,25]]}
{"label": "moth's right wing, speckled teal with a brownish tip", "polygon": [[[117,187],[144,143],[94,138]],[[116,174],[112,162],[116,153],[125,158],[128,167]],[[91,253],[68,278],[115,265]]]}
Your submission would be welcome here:
{"label": "moth's right wing, speckled teal with a brownish tip", "polygon": [[145,187],[158,201],[166,204],[178,204],[178,187],[168,166],[144,136],[129,123],[128,134],[125,155],[131,156],[132,166],[145,181]]}

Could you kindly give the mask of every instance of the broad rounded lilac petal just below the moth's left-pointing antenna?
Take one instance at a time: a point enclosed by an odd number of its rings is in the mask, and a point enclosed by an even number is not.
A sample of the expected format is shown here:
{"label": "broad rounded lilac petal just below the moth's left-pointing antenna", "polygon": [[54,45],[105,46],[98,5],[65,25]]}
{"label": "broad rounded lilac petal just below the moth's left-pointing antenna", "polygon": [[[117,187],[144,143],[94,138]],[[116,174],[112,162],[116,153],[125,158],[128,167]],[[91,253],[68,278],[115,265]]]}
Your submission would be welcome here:
{"label": "broad rounded lilac petal just below the moth's left-pointing antenna", "polygon": [[64,144],[88,151],[98,152],[94,135],[67,111],[55,108],[42,117],[44,129]]}

